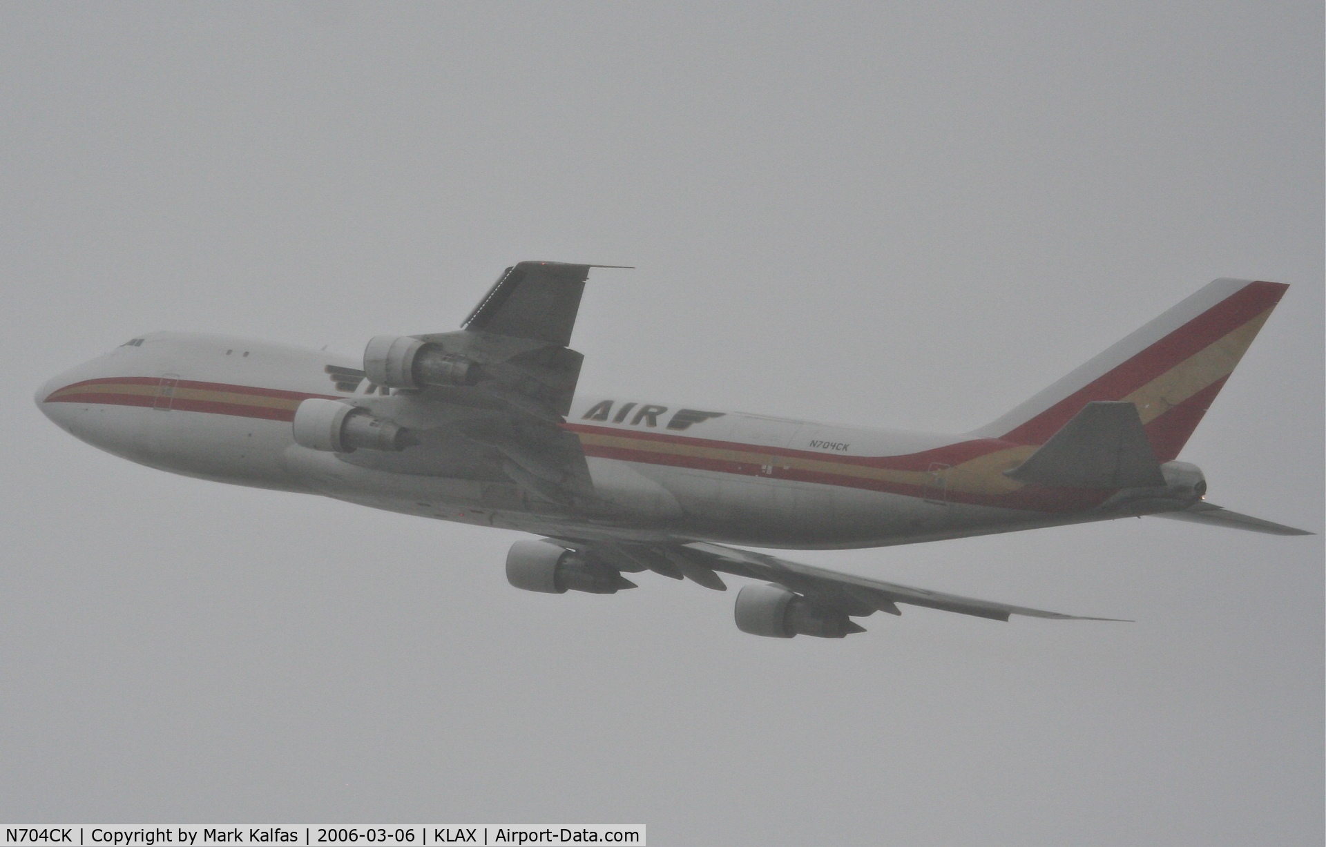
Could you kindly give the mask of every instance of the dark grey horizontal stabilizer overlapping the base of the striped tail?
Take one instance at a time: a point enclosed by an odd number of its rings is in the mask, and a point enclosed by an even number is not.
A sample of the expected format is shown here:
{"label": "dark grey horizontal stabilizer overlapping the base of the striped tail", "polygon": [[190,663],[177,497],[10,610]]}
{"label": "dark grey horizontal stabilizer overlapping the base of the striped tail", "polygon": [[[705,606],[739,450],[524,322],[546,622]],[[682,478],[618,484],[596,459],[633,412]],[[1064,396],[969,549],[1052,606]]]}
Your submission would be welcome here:
{"label": "dark grey horizontal stabilizer overlapping the base of the striped tail", "polygon": [[1005,473],[1018,482],[1049,486],[1164,485],[1138,407],[1127,400],[1087,403],[1030,459]]}

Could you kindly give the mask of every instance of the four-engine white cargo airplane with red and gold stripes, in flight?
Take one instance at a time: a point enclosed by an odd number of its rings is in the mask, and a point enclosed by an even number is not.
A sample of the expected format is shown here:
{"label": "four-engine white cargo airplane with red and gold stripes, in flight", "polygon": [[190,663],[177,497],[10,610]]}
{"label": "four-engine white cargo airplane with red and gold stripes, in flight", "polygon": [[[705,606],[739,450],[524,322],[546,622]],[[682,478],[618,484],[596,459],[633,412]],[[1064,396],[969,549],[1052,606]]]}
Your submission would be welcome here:
{"label": "four-engine white cargo airplane with red and gold stripes, in flight", "polygon": [[736,595],[737,627],[843,638],[900,604],[1110,620],[835,573],[733,545],[859,549],[1158,516],[1305,530],[1205,500],[1177,461],[1288,285],[1216,280],[996,420],[961,435],[578,395],[572,330],[591,268],[522,261],[461,329],[373,338],[362,361],[152,333],[36,394],[70,435],[184,476],[322,494],[538,536],[517,589],[615,594],[652,571]]}

